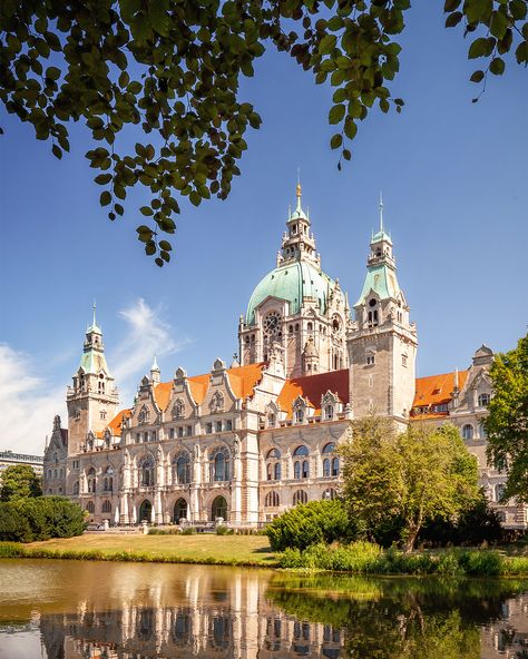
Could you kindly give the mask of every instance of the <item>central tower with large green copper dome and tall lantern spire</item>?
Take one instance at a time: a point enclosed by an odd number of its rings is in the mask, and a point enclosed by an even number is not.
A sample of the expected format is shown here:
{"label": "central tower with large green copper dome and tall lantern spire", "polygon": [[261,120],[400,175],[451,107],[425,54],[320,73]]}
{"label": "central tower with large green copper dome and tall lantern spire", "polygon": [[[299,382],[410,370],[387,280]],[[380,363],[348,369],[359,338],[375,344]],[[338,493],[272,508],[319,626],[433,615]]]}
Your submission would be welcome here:
{"label": "central tower with large green copper dome and tall lantern spire", "polygon": [[273,348],[286,377],[348,367],[349,303],[339,281],[321,269],[301,195],[297,184],[276,267],[256,286],[238,325],[241,364],[267,362]]}

